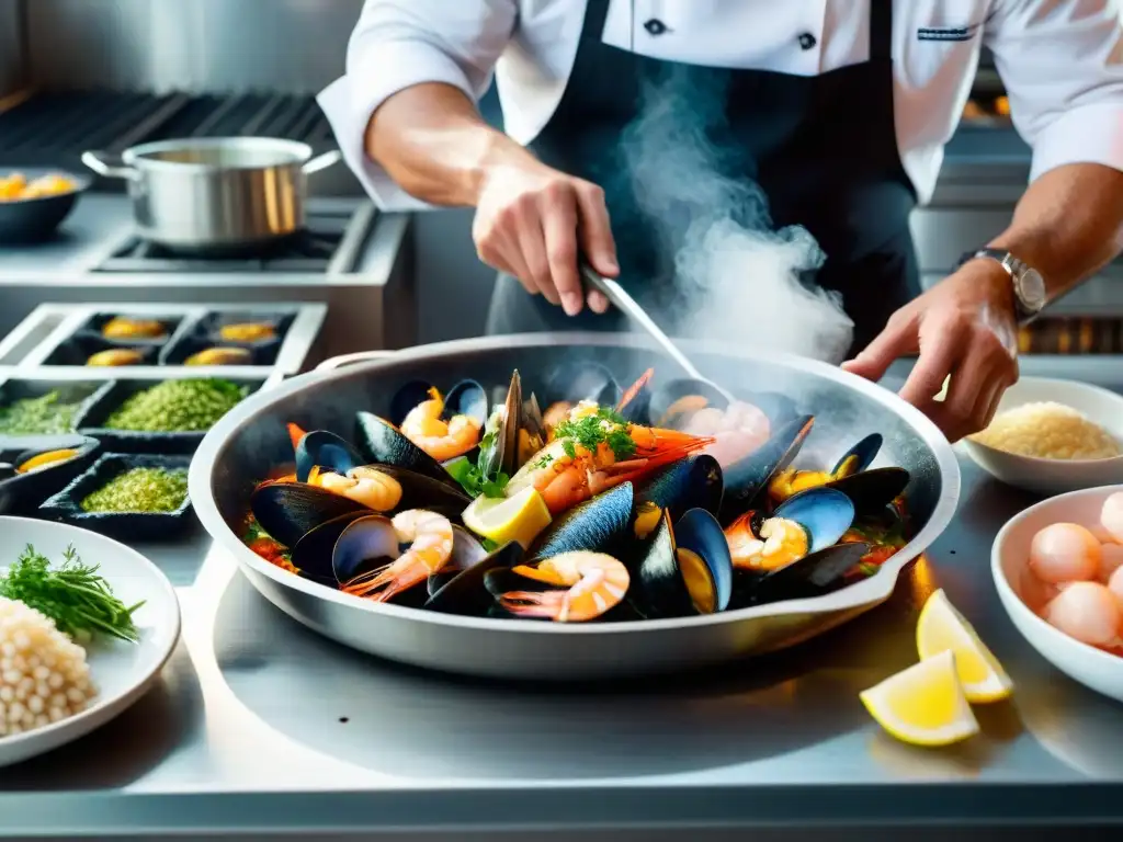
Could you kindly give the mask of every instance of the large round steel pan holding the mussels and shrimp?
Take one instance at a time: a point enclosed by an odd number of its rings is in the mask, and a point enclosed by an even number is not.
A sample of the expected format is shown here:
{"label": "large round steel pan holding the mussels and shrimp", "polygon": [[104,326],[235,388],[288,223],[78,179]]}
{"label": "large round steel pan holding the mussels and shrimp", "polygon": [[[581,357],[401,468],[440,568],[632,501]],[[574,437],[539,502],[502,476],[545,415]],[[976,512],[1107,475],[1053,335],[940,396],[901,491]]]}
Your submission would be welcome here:
{"label": "large round steel pan holding the mussels and shrimp", "polygon": [[947,439],[891,392],[833,366],[793,357],[737,356],[690,347],[704,374],[737,388],[783,391],[816,413],[804,454],[837,456],[860,434],[885,437],[879,461],[912,474],[906,489],[920,527],[882,571],[815,600],[711,616],[637,623],[572,624],[462,617],[376,604],[298,578],[241,544],[237,529],[256,481],[292,461],[285,423],[349,437],[354,413],[385,412],[407,381],[475,377],[505,384],[519,368],[533,384],[563,359],[595,358],[621,379],[673,364],[631,336],[533,335],[421,346],[334,373],[314,372],[258,393],[207,434],[191,466],[190,493],[203,524],[262,594],[304,625],[355,649],[396,661],[501,678],[575,679],[646,674],[782,649],[884,602],[902,567],[948,525],[959,497],[959,468]]}

